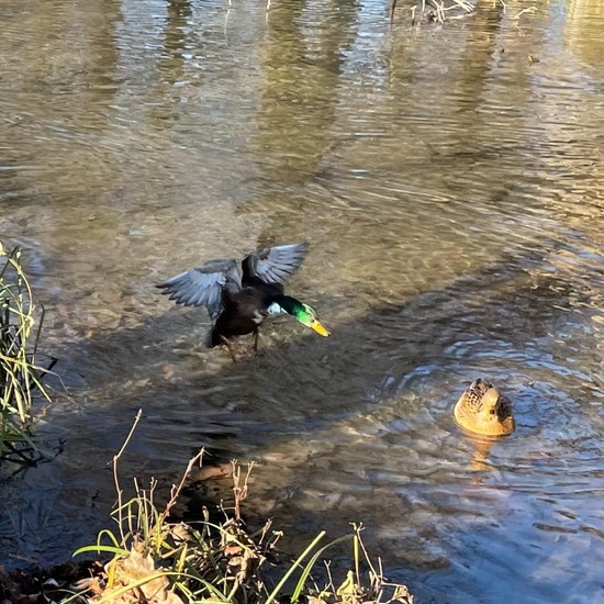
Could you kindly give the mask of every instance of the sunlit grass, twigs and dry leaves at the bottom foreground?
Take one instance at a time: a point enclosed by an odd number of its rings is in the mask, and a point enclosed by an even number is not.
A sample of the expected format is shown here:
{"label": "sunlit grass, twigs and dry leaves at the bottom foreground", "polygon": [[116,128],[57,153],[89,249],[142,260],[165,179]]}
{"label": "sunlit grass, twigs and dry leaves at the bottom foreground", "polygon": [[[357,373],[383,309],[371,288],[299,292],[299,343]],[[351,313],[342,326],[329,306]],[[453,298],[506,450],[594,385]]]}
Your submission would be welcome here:
{"label": "sunlit grass, twigs and dry leaves at the bottom foreground", "polygon": [[[170,510],[203,450],[194,456],[178,485],[174,485],[168,503],[159,508],[155,502],[156,482],[142,489],[135,480],[135,495],[123,502],[118,463],[141,418],[138,412],[122,449],[113,458],[113,476],[118,505],[113,512],[118,530],[101,530],[94,545],[78,549],[81,553],[102,553],[110,560],[102,571],[74,585],[71,595],[61,602],[131,604],[136,602],[182,602],[272,604],[301,601],[314,604],[361,604],[401,602],[411,604],[412,596],[403,585],[388,584],[381,564],[376,567],[360,538],[361,527],[351,535],[321,546],[325,532],[317,535],[300,556],[287,566],[277,580],[271,560],[281,533],[271,529],[271,522],[249,533],[241,517],[241,504],[247,496],[251,466],[246,472],[233,463],[233,507],[222,507],[224,519],[210,522],[208,511],[197,523],[172,523]],[[336,584],[326,563],[328,580],[318,588],[311,572],[325,550],[349,539],[353,543],[354,569],[342,584]],[[321,546],[321,547],[320,547]],[[361,567],[368,570],[362,573]],[[368,577],[368,578],[367,578]]]}

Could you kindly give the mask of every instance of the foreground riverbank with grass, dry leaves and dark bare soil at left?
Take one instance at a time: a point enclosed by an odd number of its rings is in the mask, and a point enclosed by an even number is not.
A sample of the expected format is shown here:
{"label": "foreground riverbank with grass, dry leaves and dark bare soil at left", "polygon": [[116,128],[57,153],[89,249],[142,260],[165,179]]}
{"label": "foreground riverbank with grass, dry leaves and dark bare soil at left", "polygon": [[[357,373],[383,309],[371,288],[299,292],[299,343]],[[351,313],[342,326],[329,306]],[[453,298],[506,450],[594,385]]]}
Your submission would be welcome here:
{"label": "foreground riverbank with grass, dry leaves and dark bare soil at left", "polygon": [[[158,503],[161,497],[155,492],[154,479],[147,488],[135,479],[136,494],[124,501],[119,459],[125,445],[113,459],[118,503],[112,515],[116,528],[101,530],[96,544],[76,550],[76,560],[47,569],[4,572],[0,568],[1,604],[412,604],[406,586],[390,583],[381,561],[371,559],[361,526],[332,541],[322,530],[297,557],[279,550],[282,532],[276,528],[277,521],[268,519],[251,529],[243,504],[253,465],[245,470],[235,462],[231,468],[200,469],[200,451],[164,504]],[[220,504],[206,502],[200,518],[182,519],[179,499],[194,469],[198,483],[216,478],[224,483],[225,477],[230,478],[232,501],[231,505],[222,503],[226,497]],[[349,547],[349,569],[332,569],[328,550],[335,546]]]}

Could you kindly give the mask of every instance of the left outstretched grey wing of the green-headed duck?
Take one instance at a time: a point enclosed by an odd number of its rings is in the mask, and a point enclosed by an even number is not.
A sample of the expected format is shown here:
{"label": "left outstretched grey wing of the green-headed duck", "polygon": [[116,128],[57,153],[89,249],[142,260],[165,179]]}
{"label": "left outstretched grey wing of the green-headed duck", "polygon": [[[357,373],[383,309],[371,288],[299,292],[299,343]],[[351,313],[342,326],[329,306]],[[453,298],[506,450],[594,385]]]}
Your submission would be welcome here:
{"label": "left outstretched grey wing of the green-headed duck", "polygon": [[214,320],[223,310],[223,288],[237,291],[242,278],[235,260],[211,260],[205,265],[186,270],[157,286],[169,294],[170,300],[184,306],[206,306]]}

